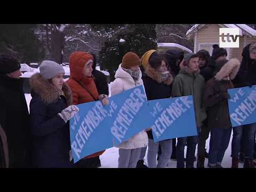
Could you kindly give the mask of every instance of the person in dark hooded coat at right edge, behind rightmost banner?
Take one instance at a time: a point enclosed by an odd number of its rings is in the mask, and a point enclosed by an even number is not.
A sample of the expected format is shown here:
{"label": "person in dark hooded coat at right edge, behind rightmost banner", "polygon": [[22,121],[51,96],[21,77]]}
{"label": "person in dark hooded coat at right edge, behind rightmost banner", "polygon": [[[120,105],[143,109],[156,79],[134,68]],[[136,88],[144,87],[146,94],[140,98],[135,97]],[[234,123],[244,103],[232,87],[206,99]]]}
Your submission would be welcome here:
{"label": "person in dark hooded coat at right edge, behind rightmost banner", "polygon": [[[256,43],[246,45],[242,52],[241,68],[233,83],[235,87],[256,85]],[[256,123],[237,126],[233,128],[231,148],[232,167],[238,167],[238,154],[241,149],[241,141],[244,140],[244,167],[254,167],[252,161],[254,151],[254,138]]]}

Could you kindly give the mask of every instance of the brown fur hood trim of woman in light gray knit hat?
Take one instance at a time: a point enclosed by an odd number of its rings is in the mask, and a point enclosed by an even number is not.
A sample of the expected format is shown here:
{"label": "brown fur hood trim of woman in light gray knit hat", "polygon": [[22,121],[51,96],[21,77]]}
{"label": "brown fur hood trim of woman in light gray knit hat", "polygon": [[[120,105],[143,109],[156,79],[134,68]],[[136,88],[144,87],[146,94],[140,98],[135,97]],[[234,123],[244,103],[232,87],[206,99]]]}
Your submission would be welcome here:
{"label": "brown fur hood trim of woman in light gray knit hat", "polygon": [[[39,73],[30,77],[29,84],[31,86],[31,90],[38,94],[46,104],[56,102],[61,95],[57,87],[51,84],[49,80],[45,80]],[[62,91],[66,97],[68,106],[72,105],[72,92],[66,82],[63,83]]]}

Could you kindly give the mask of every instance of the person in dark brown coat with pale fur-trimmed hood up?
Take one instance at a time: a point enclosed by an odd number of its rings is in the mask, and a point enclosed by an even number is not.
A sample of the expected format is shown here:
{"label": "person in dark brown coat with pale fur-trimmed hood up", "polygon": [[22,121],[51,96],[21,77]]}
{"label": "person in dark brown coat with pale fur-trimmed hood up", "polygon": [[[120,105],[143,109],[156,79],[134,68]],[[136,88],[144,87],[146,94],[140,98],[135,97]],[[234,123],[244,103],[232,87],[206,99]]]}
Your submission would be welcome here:
{"label": "person in dark brown coat with pale fur-trimmed hood up", "polygon": [[235,78],[239,67],[238,59],[220,60],[216,64],[215,76],[205,84],[203,105],[207,107],[207,124],[211,130],[210,168],[222,168],[221,162],[228,148],[232,131],[228,89],[234,88],[231,80]]}

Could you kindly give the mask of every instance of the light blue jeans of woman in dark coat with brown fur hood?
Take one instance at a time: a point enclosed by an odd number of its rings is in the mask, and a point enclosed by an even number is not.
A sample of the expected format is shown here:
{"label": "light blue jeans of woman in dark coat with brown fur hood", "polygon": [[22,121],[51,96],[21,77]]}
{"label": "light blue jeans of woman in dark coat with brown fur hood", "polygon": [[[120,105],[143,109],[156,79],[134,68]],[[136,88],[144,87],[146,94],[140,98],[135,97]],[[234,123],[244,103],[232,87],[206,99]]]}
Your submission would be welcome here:
{"label": "light blue jeans of woman in dark coat with brown fur hood", "polygon": [[[156,165],[156,155],[158,147],[161,147],[162,153],[159,156],[159,161]],[[164,168],[167,166],[172,155],[172,139],[154,142],[153,139],[148,139],[148,167],[149,168]]]}

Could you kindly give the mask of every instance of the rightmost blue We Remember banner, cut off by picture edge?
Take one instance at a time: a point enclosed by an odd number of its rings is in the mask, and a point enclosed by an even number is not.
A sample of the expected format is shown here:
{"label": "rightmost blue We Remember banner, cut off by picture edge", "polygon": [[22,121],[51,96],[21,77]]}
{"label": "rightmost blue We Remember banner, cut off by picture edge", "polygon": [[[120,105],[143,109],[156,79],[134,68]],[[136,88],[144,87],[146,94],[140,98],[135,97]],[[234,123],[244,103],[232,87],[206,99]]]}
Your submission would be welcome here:
{"label": "rightmost blue We Remember banner, cut off by picture edge", "polygon": [[229,115],[233,127],[256,123],[256,85],[229,89]]}

